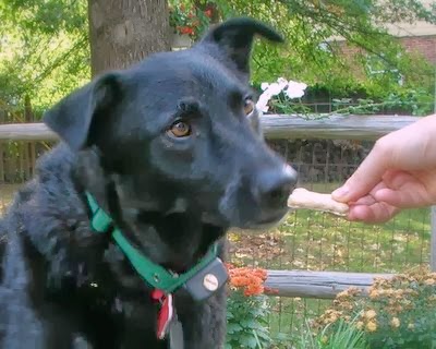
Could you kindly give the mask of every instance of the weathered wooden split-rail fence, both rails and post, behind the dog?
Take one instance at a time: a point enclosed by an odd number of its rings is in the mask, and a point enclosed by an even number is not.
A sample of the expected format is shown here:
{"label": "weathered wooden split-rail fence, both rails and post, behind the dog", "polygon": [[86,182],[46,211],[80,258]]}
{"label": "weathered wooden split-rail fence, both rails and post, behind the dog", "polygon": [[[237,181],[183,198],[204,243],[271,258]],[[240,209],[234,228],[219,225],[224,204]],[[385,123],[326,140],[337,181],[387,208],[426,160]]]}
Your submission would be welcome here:
{"label": "weathered wooden split-rail fence, both rails and post, behind the dog", "polygon": [[[262,117],[267,139],[329,139],[329,140],[377,140],[412,122],[410,116],[299,116],[267,115]],[[57,135],[41,123],[19,123],[0,125],[1,141],[57,141]],[[0,149],[1,154],[1,149]],[[0,171],[2,163],[0,158]],[[0,173],[1,174],[1,173]],[[1,178],[1,177],[0,177]],[[432,209],[432,255],[431,266],[436,270],[436,208]],[[281,297],[332,299],[349,288],[367,291],[376,277],[389,274],[331,273],[306,270],[268,270],[266,286],[278,291]]]}

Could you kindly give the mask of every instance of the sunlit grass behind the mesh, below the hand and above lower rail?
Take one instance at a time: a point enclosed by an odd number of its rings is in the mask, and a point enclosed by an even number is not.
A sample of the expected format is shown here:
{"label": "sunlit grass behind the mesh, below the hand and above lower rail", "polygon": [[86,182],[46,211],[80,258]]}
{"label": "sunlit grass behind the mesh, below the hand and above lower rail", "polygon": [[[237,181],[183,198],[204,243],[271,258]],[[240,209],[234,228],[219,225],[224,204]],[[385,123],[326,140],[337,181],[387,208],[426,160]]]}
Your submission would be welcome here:
{"label": "sunlit grass behind the mesh, below the hand and above lower rail", "polygon": [[[307,185],[306,185],[307,186]],[[312,185],[330,192],[338,185]],[[395,273],[429,261],[429,208],[402,212],[390,222],[365,225],[348,222],[329,214],[299,209],[289,214],[278,228],[265,232],[281,244],[269,258],[245,255],[267,268]],[[243,233],[231,236],[235,245],[247,242]],[[244,241],[245,240],[245,241]],[[238,257],[238,256],[237,256]]]}

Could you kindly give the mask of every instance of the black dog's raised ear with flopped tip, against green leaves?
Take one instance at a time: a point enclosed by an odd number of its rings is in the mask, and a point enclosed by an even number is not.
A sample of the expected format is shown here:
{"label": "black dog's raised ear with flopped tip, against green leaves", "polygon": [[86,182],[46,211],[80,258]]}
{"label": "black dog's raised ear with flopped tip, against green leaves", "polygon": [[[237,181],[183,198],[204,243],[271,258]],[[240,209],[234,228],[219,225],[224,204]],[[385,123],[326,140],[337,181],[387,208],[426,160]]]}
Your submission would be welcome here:
{"label": "black dog's raised ear with flopped tip, against green leaves", "polygon": [[265,23],[250,17],[237,17],[210,29],[198,43],[198,47],[219,60],[222,58],[230,59],[235,64],[237,70],[247,77],[255,35],[275,43],[284,41],[280,34]]}

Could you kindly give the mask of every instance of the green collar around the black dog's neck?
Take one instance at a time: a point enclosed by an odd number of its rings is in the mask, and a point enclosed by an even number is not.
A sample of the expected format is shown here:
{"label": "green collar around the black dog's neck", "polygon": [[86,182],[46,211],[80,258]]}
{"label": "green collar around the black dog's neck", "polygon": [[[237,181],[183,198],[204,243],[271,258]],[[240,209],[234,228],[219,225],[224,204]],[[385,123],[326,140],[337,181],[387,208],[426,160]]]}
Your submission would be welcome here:
{"label": "green collar around the black dog's neck", "polygon": [[[96,200],[89,193],[86,193],[86,197],[92,210],[92,228],[97,232],[107,232],[112,225],[112,219],[102,208],[98,206]],[[135,249],[128,241],[128,239],[125,239],[121,230],[116,227],[112,230],[112,238],[129,258],[136,273],[140,274],[140,276],[153,288],[160,289],[167,294],[174,292],[177,289],[183,286],[201,269],[213,262],[218,253],[218,245],[215,243],[210,251],[196,265],[194,265],[186,273],[177,275],[148,260],[137,249]]]}

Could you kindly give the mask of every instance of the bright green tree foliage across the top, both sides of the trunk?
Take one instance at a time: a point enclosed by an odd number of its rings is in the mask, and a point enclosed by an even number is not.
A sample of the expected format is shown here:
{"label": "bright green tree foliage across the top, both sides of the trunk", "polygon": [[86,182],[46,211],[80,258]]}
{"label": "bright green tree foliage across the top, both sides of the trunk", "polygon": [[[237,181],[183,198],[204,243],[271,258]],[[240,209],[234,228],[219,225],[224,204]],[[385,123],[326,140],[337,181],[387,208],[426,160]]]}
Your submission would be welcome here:
{"label": "bright green tree foliage across the top, both sides of the trunk", "polygon": [[[197,39],[206,26],[233,15],[268,22],[284,45],[256,41],[253,83],[289,76],[328,91],[362,85],[372,96],[432,93],[433,68],[407,55],[380,23],[436,23],[436,12],[417,0],[169,0],[171,24]],[[184,7],[184,9],[183,9]],[[433,10],[433,11],[432,11]],[[89,74],[86,0],[0,0],[0,100],[39,110],[85,83]],[[341,36],[355,55],[347,60]],[[377,70],[382,73],[374,74]],[[358,76],[351,72],[359,72]],[[399,76],[403,86],[399,86]],[[348,96],[344,96],[348,97]],[[334,96],[339,98],[339,96]],[[420,97],[421,98],[421,97]]]}

